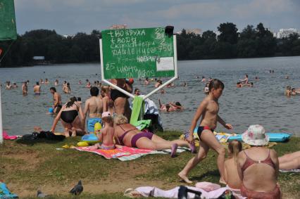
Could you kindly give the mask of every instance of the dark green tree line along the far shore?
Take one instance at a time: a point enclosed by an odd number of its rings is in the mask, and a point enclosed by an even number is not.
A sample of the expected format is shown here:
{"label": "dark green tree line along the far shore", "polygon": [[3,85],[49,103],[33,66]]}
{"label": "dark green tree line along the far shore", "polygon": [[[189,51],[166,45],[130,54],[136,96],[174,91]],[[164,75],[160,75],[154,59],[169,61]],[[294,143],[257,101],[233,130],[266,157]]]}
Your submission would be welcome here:
{"label": "dark green tree line along the far shore", "polygon": [[[300,56],[299,34],[276,39],[262,23],[256,27],[247,25],[242,32],[233,23],[221,23],[218,32],[217,36],[211,30],[201,35],[182,30],[177,34],[178,60]],[[99,62],[100,37],[99,30],[91,34],[79,32],[73,37],[63,37],[55,30],[32,30],[18,35],[0,64],[2,67],[34,65],[34,56],[44,56],[45,63]],[[1,56],[10,42],[0,41]]]}

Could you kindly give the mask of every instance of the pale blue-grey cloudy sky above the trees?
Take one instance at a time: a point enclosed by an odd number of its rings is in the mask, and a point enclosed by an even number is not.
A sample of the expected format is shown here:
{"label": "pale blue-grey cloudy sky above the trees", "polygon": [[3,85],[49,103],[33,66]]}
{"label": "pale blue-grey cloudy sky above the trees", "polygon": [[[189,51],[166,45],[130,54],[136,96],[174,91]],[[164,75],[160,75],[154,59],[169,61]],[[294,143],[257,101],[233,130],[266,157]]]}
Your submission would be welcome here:
{"label": "pale blue-grey cloudy sky above the trees", "polygon": [[15,0],[18,34],[47,29],[58,34],[90,33],[111,25],[216,31],[220,23],[263,23],[273,31],[300,30],[300,0]]}

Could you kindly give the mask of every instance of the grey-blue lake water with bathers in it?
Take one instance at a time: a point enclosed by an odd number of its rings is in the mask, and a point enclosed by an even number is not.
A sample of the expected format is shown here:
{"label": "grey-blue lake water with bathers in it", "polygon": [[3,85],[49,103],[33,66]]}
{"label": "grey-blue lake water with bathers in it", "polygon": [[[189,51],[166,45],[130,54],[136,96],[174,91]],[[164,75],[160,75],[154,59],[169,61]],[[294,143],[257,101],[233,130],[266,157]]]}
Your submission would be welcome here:
{"label": "grey-blue lake water with bathers in it", "polygon": [[[266,131],[289,132],[300,136],[300,96],[287,98],[284,96],[285,86],[300,87],[300,57],[277,58],[249,58],[230,60],[187,60],[178,62],[178,75],[175,87],[167,88],[166,94],[154,94],[151,99],[157,103],[161,98],[163,103],[180,101],[185,110],[176,113],[161,113],[164,129],[184,131],[189,129],[192,117],[199,103],[205,97],[204,84],[201,78],[213,77],[221,79],[225,84],[223,96],[220,97],[220,112],[225,122],[231,123],[233,131],[244,132],[250,124],[262,124]],[[265,73],[265,70],[275,70],[275,73]],[[238,79],[249,75],[253,88],[237,89]],[[98,74],[98,75],[96,75]],[[285,76],[289,75],[289,79]],[[254,77],[258,76],[259,81]],[[51,84],[42,85],[42,95],[33,96],[33,85],[38,79],[48,78]],[[46,112],[52,103],[49,88],[54,86],[58,79],[59,93],[62,93],[63,80],[70,82],[71,95],[61,94],[63,102],[70,96],[81,96],[82,101],[89,97],[89,89],[78,84],[81,79],[91,82],[100,80],[99,64],[69,64],[69,65],[43,65],[24,68],[0,68],[0,82],[22,82],[30,80],[28,96],[22,96],[21,83],[18,89],[4,90],[2,87],[2,110],[4,129],[8,134],[28,134],[35,125],[43,129],[51,129],[54,118]],[[180,86],[187,82],[187,87]],[[144,86],[143,82],[135,79],[134,89],[139,88],[142,94],[147,94],[154,89],[154,82]],[[58,124],[57,131],[62,131]],[[227,131],[220,124],[217,131]]]}

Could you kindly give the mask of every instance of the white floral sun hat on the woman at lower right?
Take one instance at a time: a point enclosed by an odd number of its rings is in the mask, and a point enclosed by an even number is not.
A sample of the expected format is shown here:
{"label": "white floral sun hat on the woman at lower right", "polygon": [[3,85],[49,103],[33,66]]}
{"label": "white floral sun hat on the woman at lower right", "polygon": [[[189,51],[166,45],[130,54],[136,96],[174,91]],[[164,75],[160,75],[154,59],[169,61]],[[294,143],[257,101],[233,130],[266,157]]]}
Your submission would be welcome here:
{"label": "white floral sun hat on the woman at lower right", "polygon": [[251,146],[265,146],[269,142],[269,137],[265,134],[263,126],[254,124],[242,134],[242,140]]}

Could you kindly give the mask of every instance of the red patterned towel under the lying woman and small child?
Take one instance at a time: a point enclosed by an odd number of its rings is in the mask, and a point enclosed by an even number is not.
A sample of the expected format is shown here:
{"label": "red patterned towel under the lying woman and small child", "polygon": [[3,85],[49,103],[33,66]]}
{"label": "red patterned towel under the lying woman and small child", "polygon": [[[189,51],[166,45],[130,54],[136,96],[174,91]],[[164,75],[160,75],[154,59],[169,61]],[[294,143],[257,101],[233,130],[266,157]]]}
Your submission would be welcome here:
{"label": "red patterned towel under the lying woman and small child", "polygon": [[[91,153],[96,153],[103,156],[106,159],[118,158],[121,161],[135,160],[144,155],[150,154],[168,154],[171,153],[170,149],[166,150],[149,150],[149,149],[139,149],[123,146],[122,148],[115,148],[113,150],[103,150],[103,149],[92,149],[90,146],[86,147],[75,147],[76,150],[86,151]],[[177,153],[182,153],[189,150],[189,148],[179,147],[177,148]]]}

